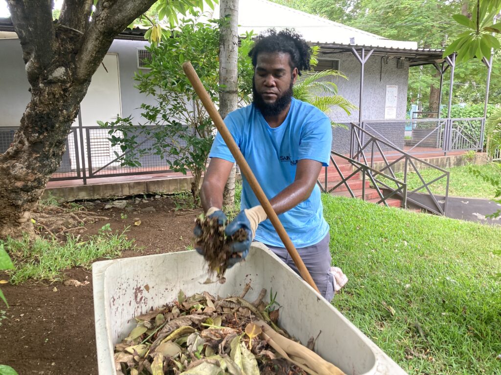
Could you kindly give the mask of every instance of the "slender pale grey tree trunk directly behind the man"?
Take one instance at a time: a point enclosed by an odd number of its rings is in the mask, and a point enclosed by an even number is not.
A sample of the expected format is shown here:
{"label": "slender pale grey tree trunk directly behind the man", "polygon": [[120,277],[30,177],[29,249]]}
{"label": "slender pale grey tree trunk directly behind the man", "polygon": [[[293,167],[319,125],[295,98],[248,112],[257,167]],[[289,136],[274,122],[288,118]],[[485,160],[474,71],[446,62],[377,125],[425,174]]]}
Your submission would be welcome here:
{"label": "slender pale grey tree trunk directly behind the man", "polygon": [[[219,40],[219,114],[222,118],[235,110],[238,102],[238,0],[220,0],[219,17],[227,17],[220,27]],[[228,181],[224,186],[223,205],[235,201],[235,174],[233,165]]]}

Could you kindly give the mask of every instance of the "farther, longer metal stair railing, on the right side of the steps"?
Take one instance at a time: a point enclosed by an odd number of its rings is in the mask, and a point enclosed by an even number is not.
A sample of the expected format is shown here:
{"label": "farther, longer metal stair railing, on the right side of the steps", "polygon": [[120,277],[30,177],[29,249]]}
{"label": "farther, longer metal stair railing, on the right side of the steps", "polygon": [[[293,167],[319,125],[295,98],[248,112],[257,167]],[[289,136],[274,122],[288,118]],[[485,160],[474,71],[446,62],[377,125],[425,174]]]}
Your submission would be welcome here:
{"label": "farther, longer metal stair railing, on the right side of the steps", "polygon": [[[367,142],[365,142],[364,145],[362,145],[362,141],[361,141],[361,137],[360,135],[362,134],[366,134],[367,137],[369,138],[369,140],[367,140]],[[365,136],[362,136],[362,139],[364,139]],[[365,139],[364,139],[365,140]],[[377,137],[375,137],[373,134],[369,133],[367,130],[363,129],[362,127],[358,126],[357,124],[355,123],[351,123],[351,142],[352,144],[354,144],[354,146],[356,147],[358,145],[357,148],[357,151],[355,150],[352,150],[352,154],[350,155],[350,159],[353,160],[353,161],[350,161],[352,164],[355,164],[355,163],[359,163],[358,161],[356,161],[355,159],[356,158],[359,158],[360,156],[363,158],[364,160],[364,163],[366,165],[369,165],[368,161],[367,161],[367,157],[365,155],[365,149],[370,145],[372,144],[372,152],[371,152],[371,167],[373,165],[373,162],[374,162],[374,145],[378,148],[378,151],[381,153],[382,155],[382,159],[383,159],[383,162],[385,163],[385,166],[384,168],[382,168],[380,170],[380,172],[384,171],[385,169],[389,169],[390,170],[390,173],[393,177],[395,177],[395,173],[393,172],[393,169],[391,168],[392,165],[395,165],[397,162],[401,161],[404,159],[404,162],[405,162],[405,167],[404,167],[404,180],[403,182],[405,184],[407,184],[407,169],[409,167],[409,164],[410,166],[414,169],[414,171],[416,172],[416,174],[419,176],[419,179],[421,180],[422,182],[422,185],[417,187],[416,189],[412,190],[411,192],[408,192],[406,194],[406,200],[407,201],[411,201],[412,203],[418,205],[418,206],[421,206],[429,211],[432,211],[434,213],[437,213],[437,214],[445,214],[446,212],[446,209],[447,209],[447,197],[448,197],[448,194],[449,194],[449,172],[446,171],[445,169],[442,169],[436,165],[433,165],[425,160],[421,160],[403,150],[401,150],[400,148],[394,146],[393,144],[389,143],[389,142],[386,142],[382,139],[379,139]],[[396,160],[393,160],[391,163],[388,162],[388,160],[386,159],[386,157],[384,156],[384,152],[382,151],[381,149],[381,146],[380,144],[384,144],[385,146],[391,148],[394,152],[398,152],[401,154],[400,157],[398,157]],[[423,176],[421,175],[421,173],[419,172],[416,164],[414,161],[418,161],[418,162],[421,162],[421,163],[424,163],[425,165],[429,166],[430,168],[433,168],[433,169],[437,169],[439,170],[440,172],[442,172],[442,175],[434,178],[433,180],[429,181],[429,182],[426,182],[423,178]],[[444,200],[444,203],[443,203],[443,206],[438,202],[435,194],[433,194],[433,192],[430,190],[429,188],[429,185],[433,182],[436,182],[437,180],[441,179],[441,178],[444,178],[446,177],[447,179],[447,183],[446,183],[446,187],[445,187],[445,200]],[[387,177],[386,177],[387,178]],[[373,182],[374,185],[377,187],[376,183]],[[387,186],[387,185],[386,185]],[[397,185],[398,187],[398,185]],[[416,199],[413,199],[412,197],[410,197],[409,195],[411,194],[414,194],[414,193],[417,193],[419,190],[421,190],[422,188],[425,188],[428,192],[428,196],[429,198],[431,199],[431,202],[432,202],[432,205],[429,205],[429,204],[426,204],[426,203],[423,203],[422,201],[419,201],[419,200],[416,200]],[[395,189],[393,188],[390,188],[391,190],[393,190],[395,192]],[[396,190],[399,190],[400,188],[396,189]],[[398,195],[400,195],[399,192],[396,192]],[[417,196],[416,196],[417,197]]]}

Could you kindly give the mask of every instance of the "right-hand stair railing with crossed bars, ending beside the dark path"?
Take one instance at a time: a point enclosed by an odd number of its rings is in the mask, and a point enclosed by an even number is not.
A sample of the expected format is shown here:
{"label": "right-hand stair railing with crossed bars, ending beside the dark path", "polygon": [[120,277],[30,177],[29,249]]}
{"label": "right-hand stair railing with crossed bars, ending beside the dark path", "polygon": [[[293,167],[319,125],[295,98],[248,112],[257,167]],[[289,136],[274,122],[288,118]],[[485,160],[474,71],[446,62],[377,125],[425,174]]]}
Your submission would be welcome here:
{"label": "right-hand stair railing with crossed bars, ending beside the dark path", "polygon": [[[375,188],[388,189],[394,192],[394,194],[399,195],[402,199],[405,199],[405,204],[408,202],[413,203],[416,206],[425,208],[431,212],[437,214],[445,214],[447,209],[447,197],[449,194],[449,172],[439,168],[427,161],[421,160],[404,150],[395,147],[392,143],[378,138],[376,135],[368,132],[366,129],[356,125],[351,124],[351,157],[350,162],[357,166],[361,163],[360,159],[363,160],[363,164],[369,166],[372,169],[376,169],[379,174],[387,171],[392,178],[386,178],[386,180],[380,180],[372,176],[371,180]],[[389,152],[388,152],[389,151]],[[367,152],[370,152],[368,155]],[[391,157],[389,157],[390,155]],[[375,168],[375,164],[380,165],[380,167]],[[433,175],[432,179],[426,181],[420,172],[418,165],[423,164],[425,168],[433,169],[438,175]],[[390,186],[387,181],[392,181],[395,183],[396,170],[397,168],[403,171],[403,181],[399,180],[399,184],[395,187]],[[416,173],[420,180],[420,185],[414,188],[412,191],[408,191],[408,174]],[[443,196],[439,196],[430,189],[430,185],[445,178],[445,193]],[[378,187],[377,183],[381,186]],[[406,192],[405,194],[401,191],[401,185],[405,184]],[[423,190],[423,192],[420,192]]]}

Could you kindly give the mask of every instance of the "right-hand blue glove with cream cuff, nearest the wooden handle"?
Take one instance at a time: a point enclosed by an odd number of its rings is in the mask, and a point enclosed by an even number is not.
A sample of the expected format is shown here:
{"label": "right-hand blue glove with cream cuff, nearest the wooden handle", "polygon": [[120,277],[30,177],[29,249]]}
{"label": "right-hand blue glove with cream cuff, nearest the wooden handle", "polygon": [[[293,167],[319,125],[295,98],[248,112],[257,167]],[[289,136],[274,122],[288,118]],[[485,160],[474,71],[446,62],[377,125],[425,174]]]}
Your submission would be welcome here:
{"label": "right-hand blue glove with cream cuff, nearest the wooden handle", "polygon": [[241,210],[231,222],[226,225],[224,233],[231,236],[238,229],[244,229],[247,233],[245,239],[241,241],[234,241],[231,243],[231,252],[239,253],[236,257],[230,257],[228,260],[228,268],[244,259],[250,249],[250,243],[256,236],[256,229],[261,221],[266,220],[267,215],[262,206],[257,205],[249,209]]}

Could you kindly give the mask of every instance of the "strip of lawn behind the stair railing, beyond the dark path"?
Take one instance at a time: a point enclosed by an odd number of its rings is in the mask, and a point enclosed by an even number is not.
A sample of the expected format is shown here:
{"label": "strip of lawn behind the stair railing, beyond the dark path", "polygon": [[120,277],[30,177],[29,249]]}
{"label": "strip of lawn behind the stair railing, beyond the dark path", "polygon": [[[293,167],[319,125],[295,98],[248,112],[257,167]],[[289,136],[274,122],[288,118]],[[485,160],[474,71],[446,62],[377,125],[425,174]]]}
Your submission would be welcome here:
{"label": "strip of lawn behind the stair railing, beyond the dark path", "polygon": [[[478,165],[478,169],[488,175],[494,176],[499,173],[499,168],[493,164]],[[494,196],[494,187],[479,177],[474,176],[468,171],[467,166],[455,166],[447,169],[450,172],[449,195],[464,196],[471,198],[492,198]],[[426,182],[438,177],[442,172],[436,169],[419,170]],[[403,180],[403,173],[396,173],[397,179]],[[390,186],[392,184],[388,183]],[[417,173],[407,174],[407,191],[411,191],[423,183]],[[446,179],[442,178],[431,184],[431,191],[435,194],[445,194]],[[419,192],[426,192],[421,189]]]}

